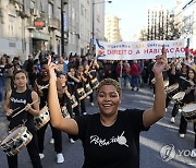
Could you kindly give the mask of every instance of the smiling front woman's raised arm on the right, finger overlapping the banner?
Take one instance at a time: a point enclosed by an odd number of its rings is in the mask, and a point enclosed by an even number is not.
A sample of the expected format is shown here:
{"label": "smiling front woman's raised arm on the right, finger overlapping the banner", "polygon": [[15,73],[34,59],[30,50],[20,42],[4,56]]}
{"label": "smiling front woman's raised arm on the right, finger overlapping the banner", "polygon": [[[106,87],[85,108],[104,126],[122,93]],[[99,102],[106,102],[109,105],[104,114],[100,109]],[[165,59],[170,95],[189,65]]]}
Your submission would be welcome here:
{"label": "smiling front woman's raised arm on the right, finger overlapping the banner", "polygon": [[162,71],[167,67],[167,51],[164,46],[162,47],[162,55],[156,57],[156,63],[152,68],[155,74],[155,101],[154,107],[151,109],[145,110],[143,115],[144,125],[150,127],[160,120],[166,112],[166,93],[164,93],[164,84]]}

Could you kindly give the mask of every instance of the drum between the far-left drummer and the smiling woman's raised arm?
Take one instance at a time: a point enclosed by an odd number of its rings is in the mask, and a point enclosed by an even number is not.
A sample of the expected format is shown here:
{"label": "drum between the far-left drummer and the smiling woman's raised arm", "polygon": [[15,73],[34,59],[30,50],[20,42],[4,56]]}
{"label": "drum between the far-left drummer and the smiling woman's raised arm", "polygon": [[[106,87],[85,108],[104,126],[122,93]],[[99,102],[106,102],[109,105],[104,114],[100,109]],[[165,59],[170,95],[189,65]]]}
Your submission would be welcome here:
{"label": "drum between the far-left drummer and the smiling woman's raised arm", "polygon": [[42,128],[48,121],[50,121],[50,113],[48,107],[45,106],[40,111],[39,116],[34,118],[35,127],[37,130]]}

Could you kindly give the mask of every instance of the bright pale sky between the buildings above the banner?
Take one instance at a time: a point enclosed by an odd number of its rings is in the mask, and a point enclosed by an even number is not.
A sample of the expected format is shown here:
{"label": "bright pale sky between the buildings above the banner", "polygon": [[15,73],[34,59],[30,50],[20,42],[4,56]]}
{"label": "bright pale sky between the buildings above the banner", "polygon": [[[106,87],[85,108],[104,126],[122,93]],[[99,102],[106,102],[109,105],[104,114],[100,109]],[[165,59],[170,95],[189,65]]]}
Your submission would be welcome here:
{"label": "bright pale sky between the buildings above the banner", "polygon": [[163,4],[172,10],[176,0],[112,0],[106,3],[106,13],[120,19],[120,31],[124,41],[133,40],[135,34],[147,25],[148,9]]}

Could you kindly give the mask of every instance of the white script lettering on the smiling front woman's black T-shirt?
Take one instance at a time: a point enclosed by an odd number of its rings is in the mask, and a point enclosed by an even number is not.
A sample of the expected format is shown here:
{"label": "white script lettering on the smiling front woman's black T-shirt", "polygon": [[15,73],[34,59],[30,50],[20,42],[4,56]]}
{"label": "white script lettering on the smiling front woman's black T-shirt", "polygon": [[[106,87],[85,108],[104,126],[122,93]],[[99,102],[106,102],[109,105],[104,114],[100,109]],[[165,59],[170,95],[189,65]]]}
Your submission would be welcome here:
{"label": "white script lettering on the smiling front woman's black T-shirt", "polygon": [[112,136],[110,140],[106,140],[106,139],[100,139],[98,135],[91,135],[90,136],[90,143],[94,143],[94,144],[98,144],[99,146],[108,146],[112,143],[119,143],[120,145],[125,145],[126,147],[128,147],[128,145],[126,144],[126,137],[123,136],[124,134],[124,131],[123,133],[118,137],[114,137]]}

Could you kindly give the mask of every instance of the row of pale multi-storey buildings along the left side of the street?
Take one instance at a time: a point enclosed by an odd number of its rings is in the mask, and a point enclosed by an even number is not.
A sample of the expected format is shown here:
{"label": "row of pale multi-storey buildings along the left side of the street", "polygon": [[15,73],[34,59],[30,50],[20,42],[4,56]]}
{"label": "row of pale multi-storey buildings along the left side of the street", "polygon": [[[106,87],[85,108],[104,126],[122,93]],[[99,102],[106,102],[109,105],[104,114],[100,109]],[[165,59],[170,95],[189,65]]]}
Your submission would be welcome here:
{"label": "row of pale multi-storey buildings along the left side of the street", "polygon": [[[91,0],[0,0],[0,55],[25,60],[39,51],[61,55],[62,47],[64,55],[86,53],[91,35]],[[97,13],[105,13],[103,10]],[[102,21],[96,24],[98,29]]]}

